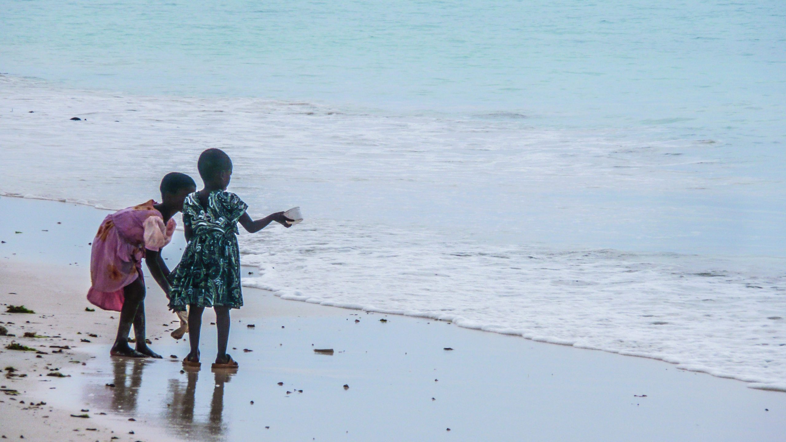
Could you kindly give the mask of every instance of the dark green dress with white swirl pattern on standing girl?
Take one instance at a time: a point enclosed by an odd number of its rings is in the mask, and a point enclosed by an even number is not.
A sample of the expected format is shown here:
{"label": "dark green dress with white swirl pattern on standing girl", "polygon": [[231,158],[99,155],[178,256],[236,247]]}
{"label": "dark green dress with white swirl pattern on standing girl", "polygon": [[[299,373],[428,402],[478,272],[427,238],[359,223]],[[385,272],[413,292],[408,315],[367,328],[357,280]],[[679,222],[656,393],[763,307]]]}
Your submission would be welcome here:
{"label": "dark green dress with white swirl pattern on standing girl", "polygon": [[241,259],[237,249],[237,220],[248,205],[234,193],[214,190],[203,207],[198,193],[183,204],[183,224],[193,232],[183,257],[170,275],[169,308],[221,305],[241,308]]}

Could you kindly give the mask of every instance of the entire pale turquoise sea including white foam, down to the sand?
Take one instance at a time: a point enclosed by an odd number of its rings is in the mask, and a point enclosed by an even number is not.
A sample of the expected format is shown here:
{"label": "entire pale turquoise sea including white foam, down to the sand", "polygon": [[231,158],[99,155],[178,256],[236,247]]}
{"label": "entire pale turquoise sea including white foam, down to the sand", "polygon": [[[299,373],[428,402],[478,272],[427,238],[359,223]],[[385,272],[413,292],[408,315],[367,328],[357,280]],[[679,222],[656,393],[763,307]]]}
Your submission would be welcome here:
{"label": "entire pale turquoise sea including white foam, down to the sand", "polygon": [[247,284],[782,387],[784,8],[12,2],[0,193],[122,208],[219,147],[306,215]]}

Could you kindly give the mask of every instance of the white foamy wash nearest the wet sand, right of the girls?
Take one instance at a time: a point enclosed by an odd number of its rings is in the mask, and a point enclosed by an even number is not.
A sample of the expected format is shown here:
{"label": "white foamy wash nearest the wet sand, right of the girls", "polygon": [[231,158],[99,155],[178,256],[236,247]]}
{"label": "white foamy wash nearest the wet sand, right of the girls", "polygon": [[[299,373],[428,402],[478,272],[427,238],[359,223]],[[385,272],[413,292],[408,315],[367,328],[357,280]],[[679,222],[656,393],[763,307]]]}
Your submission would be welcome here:
{"label": "white foamy wash nearest the wet sand, right of the girls", "polygon": [[[733,260],[549,252],[375,234],[319,220],[241,235],[244,285],[315,304],[452,321],[534,341],[645,356],[786,391],[786,278]],[[782,260],[769,262],[782,266]]]}

